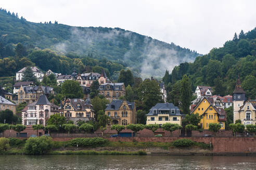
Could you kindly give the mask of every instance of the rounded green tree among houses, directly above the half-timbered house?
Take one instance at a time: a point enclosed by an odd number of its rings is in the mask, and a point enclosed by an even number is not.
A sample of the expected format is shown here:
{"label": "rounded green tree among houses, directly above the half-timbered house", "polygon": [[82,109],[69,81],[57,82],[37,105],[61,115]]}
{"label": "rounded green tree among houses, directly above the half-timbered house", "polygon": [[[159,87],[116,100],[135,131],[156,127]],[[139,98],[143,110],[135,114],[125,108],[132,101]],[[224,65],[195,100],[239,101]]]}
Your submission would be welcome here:
{"label": "rounded green tree among houses, directly above the half-timbered house", "polygon": [[83,88],[75,80],[66,80],[62,83],[61,94],[67,98],[83,98]]}

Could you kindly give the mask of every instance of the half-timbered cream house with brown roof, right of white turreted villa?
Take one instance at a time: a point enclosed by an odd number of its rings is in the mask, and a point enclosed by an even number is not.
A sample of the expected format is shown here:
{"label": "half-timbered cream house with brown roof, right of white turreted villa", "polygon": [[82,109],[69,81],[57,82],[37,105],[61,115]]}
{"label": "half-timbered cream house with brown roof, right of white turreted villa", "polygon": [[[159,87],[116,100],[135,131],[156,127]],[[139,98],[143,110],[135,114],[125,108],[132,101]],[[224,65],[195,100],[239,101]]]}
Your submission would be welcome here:
{"label": "half-timbered cream house with brown roof, right of white turreted villa", "polygon": [[85,101],[79,98],[68,98],[62,107],[62,114],[67,120],[72,120],[74,124],[79,121],[95,120],[95,111],[91,101],[87,98]]}

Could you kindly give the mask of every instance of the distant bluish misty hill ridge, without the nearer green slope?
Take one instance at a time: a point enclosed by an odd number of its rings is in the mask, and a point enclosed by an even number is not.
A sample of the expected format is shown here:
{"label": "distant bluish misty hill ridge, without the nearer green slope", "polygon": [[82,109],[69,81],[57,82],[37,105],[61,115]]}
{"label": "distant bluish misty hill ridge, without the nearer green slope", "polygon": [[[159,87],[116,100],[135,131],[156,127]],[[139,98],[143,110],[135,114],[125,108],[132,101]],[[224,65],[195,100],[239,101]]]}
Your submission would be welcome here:
{"label": "distant bluish misty hill ridge, without the nearer green slope", "polygon": [[161,77],[166,69],[193,62],[199,55],[173,43],[119,28],[33,23],[3,9],[0,10],[0,43],[1,58],[14,55],[13,49],[21,43],[27,49],[49,48],[72,59],[84,56],[107,59],[131,67],[135,76],[137,73],[142,77]]}

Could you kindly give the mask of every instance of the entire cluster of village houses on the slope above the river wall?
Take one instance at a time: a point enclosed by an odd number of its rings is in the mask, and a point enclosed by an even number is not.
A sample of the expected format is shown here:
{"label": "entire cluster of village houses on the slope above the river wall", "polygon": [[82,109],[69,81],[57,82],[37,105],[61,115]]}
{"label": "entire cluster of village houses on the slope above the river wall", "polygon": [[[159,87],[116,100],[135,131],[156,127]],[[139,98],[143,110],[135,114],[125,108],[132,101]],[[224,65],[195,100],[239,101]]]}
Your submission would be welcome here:
{"label": "entire cluster of village houses on the slope above the river wall", "polygon": [[[39,80],[42,79],[44,74],[39,68],[31,67],[31,69]],[[60,106],[48,100],[50,95],[56,94],[52,87],[35,86],[33,81],[20,81],[24,70],[25,68],[22,68],[16,74],[17,82],[13,86],[14,94],[0,89],[0,110],[10,109],[16,114],[16,104],[27,103],[21,114],[24,125],[42,124],[45,126],[49,117],[56,113],[66,117],[67,121],[73,121],[74,124],[78,124],[79,121],[95,120],[95,110],[89,97],[93,81],[99,82],[98,94],[103,95],[109,101],[105,109],[105,115],[110,118],[108,125],[137,123],[135,102],[120,100],[120,97],[125,96],[124,83],[112,82],[104,69],[101,74],[93,72],[80,74],[74,70],[71,75],[56,74],[48,70],[46,75],[54,74],[59,85],[66,80],[75,80],[83,88],[83,98],[66,98],[61,101]],[[152,77],[151,80],[153,80]],[[158,103],[149,110],[146,115],[146,124],[174,123],[182,125],[185,115],[177,106],[166,102],[167,93],[164,83],[159,82],[159,86],[164,103]],[[227,115],[224,109],[233,105],[234,122],[239,119],[244,125],[256,123],[256,101],[246,100],[245,91],[241,87],[239,78],[233,96],[213,95],[212,88],[207,86],[197,86],[194,95],[196,99],[191,102],[190,114],[199,114],[201,118],[199,125],[204,130],[209,129],[210,123],[219,123],[221,130],[225,130]],[[10,101],[14,101],[16,104]]]}

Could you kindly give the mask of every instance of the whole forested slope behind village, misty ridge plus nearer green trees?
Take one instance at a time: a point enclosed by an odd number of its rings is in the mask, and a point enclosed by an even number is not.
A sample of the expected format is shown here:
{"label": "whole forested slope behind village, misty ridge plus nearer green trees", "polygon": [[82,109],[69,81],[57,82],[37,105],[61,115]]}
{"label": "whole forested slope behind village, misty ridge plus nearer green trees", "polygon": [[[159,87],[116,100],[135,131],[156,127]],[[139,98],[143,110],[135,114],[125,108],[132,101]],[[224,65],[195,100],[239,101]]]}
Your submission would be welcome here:
{"label": "whole forested slope behind village, misty ridge plus nearer green trees", "polygon": [[[33,23],[17,13],[0,9],[0,64],[7,65],[4,75],[0,70],[1,76],[12,75],[11,70],[16,71],[19,64],[27,62],[25,59],[19,61],[25,57],[43,70],[49,68],[64,74],[69,74],[73,67],[82,72],[86,66],[105,67],[105,64],[111,65],[106,67],[110,75],[120,67],[129,67],[135,76],[161,77],[165,69],[193,62],[200,55],[173,43],[119,28],[74,27],[57,21]],[[27,49],[21,51],[21,55],[15,51],[19,43]],[[166,61],[174,64],[167,65]],[[17,66],[12,64],[14,62]]]}

